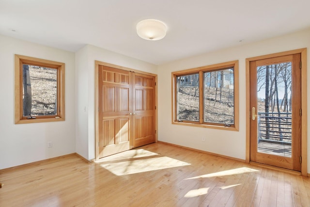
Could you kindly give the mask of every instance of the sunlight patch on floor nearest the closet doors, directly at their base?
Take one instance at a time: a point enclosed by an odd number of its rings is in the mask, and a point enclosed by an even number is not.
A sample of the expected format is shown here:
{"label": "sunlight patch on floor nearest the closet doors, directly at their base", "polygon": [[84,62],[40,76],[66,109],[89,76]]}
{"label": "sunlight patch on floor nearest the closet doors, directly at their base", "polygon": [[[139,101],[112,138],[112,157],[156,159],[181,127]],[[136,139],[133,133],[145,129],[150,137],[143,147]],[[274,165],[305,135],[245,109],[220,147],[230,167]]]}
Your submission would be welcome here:
{"label": "sunlight patch on floor nearest the closet doors, directly at their base", "polygon": [[120,152],[115,155],[110,155],[105,158],[101,158],[95,162],[106,162],[106,161],[116,161],[121,159],[132,159],[132,158],[144,158],[144,157],[150,157],[150,156],[156,156],[157,153],[150,152],[144,149],[131,149],[124,152]]}

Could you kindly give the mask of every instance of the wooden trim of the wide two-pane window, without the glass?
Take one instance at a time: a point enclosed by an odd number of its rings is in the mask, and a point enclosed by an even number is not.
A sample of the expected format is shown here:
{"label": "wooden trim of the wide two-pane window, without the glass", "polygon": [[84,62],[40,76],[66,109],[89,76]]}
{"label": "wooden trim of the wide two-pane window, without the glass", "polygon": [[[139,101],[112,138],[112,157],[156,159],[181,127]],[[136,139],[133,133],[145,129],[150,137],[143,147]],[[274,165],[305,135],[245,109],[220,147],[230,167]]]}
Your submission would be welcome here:
{"label": "wooden trim of the wide two-pane window, without the glass", "polygon": [[[225,63],[220,63],[220,64],[212,64],[212,65],[206,65],[202,67],[197,67],[197,68],[191,68],[191,69],[186,69],[186,70],[181,70],[181,71],[175,71],[171,73],[171,123],[176,124],[176,125],[183,125],[183,126],[193,126],[193,127],[205,127],[205,128],[216,128],[216,129],[224,129],[224,130],[232,130],[232,131],[239,131],[239,68],[238,68],[238,60],[236,61],[230,61],[230,62],[225,62]],[[219,69],[227,69],[233,67],[233,79],[234,79],[234,125],[230,127],[225,127],[222,124],[217,124],[217,123],[205,123],[203,122],[203,99],[200,98],[199,100],[199,114],[200,114],[200,120],[199,122],[194,122],[194,121],[177,121],[176,120],[176,114],[177,114],[177,107],[176,107],[176,100],[177,100],[177,94],[176,94],[176,77],[181,76],[181,75],[190,75],[194,73],[199,73],[200,74],[200,80],[199,80],[199,93],[203,94],[203,78],[202,74],[204,72],[211,72]]]}

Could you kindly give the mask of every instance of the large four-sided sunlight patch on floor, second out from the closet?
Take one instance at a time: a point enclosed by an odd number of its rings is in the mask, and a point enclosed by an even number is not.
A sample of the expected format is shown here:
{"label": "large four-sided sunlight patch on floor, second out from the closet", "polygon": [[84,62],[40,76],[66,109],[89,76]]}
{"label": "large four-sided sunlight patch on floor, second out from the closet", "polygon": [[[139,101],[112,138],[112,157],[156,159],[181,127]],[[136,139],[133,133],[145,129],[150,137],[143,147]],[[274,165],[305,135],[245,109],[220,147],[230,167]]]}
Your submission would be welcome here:
{"label": "large four-sided sunlight patch on floor, second out from the closet", "polygon": [[135,159],[128,161],[100,164],[101,167],[109,170],[111,173],[118,176],[143,173],[148,171],[161,170],[186,165],[190,164],[169,157]]}

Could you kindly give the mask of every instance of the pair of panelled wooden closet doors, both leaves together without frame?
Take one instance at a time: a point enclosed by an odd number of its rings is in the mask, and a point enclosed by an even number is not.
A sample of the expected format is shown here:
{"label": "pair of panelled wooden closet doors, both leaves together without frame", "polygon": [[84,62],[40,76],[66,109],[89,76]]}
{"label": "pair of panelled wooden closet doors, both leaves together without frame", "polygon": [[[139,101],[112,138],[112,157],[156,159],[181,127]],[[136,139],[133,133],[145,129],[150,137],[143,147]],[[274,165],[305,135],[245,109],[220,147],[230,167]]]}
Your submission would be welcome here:
{"label": "pair of panelled wooden closet doors, both leaves together without frame", "polygon": [[155,77],[98,66],[98,158],[155,142]]}

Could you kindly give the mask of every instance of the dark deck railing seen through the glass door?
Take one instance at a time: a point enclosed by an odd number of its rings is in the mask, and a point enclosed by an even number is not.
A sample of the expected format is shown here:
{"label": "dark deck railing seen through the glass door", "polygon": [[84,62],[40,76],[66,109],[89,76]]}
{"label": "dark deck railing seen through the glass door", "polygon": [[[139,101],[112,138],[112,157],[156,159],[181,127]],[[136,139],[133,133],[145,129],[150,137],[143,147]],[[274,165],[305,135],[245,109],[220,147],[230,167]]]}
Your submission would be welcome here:
{"label": "dark deck railing seen through the glass door", "polygon": [[292,143],[292,113],[258,112],[258,142]]}

